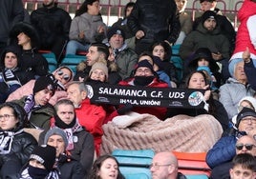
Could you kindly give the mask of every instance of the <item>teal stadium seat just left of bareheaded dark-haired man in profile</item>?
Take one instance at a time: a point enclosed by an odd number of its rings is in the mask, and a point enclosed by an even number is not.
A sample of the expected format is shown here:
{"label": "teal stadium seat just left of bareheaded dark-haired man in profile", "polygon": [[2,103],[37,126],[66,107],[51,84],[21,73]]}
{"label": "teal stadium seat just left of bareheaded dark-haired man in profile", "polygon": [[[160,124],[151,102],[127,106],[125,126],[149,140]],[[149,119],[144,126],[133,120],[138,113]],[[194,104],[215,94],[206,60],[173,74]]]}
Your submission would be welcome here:
{"label": "teal stadium seat just left of bareheaded dark-haired man in profile", "polygon": [[76,66],[81,62],[85,61],[86,56],[75,55],[75,54],[67,54],[65,58],[62,60],[60,66],[68,66],[74,72],[76,71]]}

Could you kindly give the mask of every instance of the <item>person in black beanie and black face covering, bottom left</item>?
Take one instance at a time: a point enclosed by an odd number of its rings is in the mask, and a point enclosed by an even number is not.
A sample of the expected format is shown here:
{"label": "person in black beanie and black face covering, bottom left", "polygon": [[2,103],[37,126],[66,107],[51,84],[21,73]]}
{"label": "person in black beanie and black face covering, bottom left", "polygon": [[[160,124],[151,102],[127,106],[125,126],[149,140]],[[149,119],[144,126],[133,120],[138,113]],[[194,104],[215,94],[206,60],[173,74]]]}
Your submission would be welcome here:
{"label": "person in black beanie and black face covering, bottom left", "polygon": [[52,146],[38,146],[32,150],[29,162],[22,169],[20,179],[28,178],[53,178],[57,179],[58,171],[54,169],[56,149]]}

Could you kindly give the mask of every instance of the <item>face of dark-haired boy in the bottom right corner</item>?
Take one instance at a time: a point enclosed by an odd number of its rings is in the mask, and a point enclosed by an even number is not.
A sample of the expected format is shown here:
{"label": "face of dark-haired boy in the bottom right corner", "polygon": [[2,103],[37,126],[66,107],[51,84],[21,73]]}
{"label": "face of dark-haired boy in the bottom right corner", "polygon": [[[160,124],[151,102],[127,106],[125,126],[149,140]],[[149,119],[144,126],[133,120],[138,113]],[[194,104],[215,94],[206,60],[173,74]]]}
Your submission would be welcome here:
{"label": "face of dark-haired boy in the bottom right corner", "polygon": [[256,172],[251,169],[244,169],[242,165],[237,165],[230,169],[229,173],[231,179],[254,179],[256,176]]}

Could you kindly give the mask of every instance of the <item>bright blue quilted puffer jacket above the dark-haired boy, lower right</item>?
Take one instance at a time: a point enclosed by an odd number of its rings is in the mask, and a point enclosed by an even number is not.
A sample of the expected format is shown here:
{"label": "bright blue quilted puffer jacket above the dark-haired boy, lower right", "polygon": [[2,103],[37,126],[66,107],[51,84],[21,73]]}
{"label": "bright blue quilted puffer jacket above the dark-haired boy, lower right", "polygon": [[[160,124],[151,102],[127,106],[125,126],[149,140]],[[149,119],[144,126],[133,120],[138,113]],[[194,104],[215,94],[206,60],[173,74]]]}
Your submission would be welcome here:
{"label": "bright blue quilted puffer jacket above the dark-haired boy, lower right", "polygon": [[222,137],[206,154],[206,163],[213,169],[218,165],[229,162],[236,155],[235,135]]}

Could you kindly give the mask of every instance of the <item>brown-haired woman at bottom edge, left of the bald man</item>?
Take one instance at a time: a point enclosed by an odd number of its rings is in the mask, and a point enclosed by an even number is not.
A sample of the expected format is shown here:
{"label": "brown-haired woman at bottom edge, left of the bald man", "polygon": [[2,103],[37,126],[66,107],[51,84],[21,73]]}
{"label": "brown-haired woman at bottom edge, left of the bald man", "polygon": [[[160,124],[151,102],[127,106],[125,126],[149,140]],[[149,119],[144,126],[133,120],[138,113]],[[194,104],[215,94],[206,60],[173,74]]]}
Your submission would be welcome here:
{"label": "brown-haired woman at bottom edge, left of the bald man", "polygon": [[107,179],[111,176],[113,179],[124,179],[120,170],[117,159],[112,155],[99,156],[90,173],[90,179]]}

